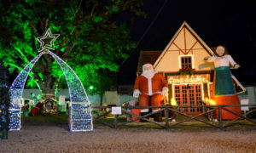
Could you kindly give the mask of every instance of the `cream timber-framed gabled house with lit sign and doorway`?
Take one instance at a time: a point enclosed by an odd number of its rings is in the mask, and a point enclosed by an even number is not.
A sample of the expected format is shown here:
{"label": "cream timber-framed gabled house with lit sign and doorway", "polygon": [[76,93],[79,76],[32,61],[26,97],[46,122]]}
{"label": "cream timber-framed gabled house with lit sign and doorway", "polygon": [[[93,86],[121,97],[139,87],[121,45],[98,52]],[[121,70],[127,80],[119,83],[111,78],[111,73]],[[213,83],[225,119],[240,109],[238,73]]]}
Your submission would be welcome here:
{"label": "cream timber-framed gabled house with lit sign and doorway", "polygon": [[[172,40],[163,51],[158,52],[158,57],[150,57],[152,51],[143,51],[139,58],[137,75],[142,70],[139,68],[145,63],[154,65],[154,70],[163,73],[168,82],[169,95],[167,101],[175,101],[177,105],[188,106],[181,111],[188,114],[199,114],[201,108],[193,108],[193,105],[202,105],[207,99],[211,99],[213,84],[213,63],[207,63],[204,58],[212,56],[212,48],[209,48],[195,31],[186,23],[177,30]],[[143,59],[145,54],[152,61]],[[155,53],[156,54],[156,53]],[[233,77],[236,92],[245,91]]]}

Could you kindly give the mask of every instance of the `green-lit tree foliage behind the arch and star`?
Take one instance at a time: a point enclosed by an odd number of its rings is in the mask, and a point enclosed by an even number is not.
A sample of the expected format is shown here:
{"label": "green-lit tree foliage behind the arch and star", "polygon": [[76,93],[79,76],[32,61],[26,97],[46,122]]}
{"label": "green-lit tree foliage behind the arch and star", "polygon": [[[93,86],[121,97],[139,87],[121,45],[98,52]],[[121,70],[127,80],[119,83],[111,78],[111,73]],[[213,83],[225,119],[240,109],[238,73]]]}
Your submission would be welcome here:
{"label": "green-lit tree foliage behind the arch and star", "polygon": [[[92,85],[91,92],[102,93],[114,85],[116,61],[135,48],[127,24],[118,24],[112,17],[122,11],[144,15],[142,5],[143,0],[1,1],[0,59],[11,73],[19,72],[38,54],[37,37],[50,28],[61,34],[54,53],[71,65],[86,89]],[[39,86],[47,93],[67,84],[60,67],[45,54],[26,86]]]}

